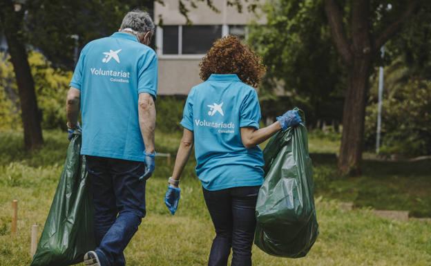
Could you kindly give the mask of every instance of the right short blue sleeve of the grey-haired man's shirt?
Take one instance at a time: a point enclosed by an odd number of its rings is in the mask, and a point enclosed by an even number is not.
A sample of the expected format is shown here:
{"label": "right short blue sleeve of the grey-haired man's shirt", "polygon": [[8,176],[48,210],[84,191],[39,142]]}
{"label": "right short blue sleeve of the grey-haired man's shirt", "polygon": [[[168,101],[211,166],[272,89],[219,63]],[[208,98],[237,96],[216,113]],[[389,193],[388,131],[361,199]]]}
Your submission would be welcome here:
{"label": "right short blue sleeve of the grey-haired man's shirt", "polygon": [[151,50],[137,66],[137,93],[149,93],[157,97],[157,55]]}

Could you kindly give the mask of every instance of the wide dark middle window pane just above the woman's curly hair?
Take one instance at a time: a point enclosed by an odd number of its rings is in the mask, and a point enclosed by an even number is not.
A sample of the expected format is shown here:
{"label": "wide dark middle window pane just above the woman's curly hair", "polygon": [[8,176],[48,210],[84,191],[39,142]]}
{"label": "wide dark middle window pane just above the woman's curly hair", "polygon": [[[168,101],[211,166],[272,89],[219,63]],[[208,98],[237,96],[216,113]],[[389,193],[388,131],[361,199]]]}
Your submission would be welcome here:
{"label": "wide dark middle window pane just above the woman's curly hair", "polygon": [[182,26],[182,54],[203,55],[222,37],[222,26]]}

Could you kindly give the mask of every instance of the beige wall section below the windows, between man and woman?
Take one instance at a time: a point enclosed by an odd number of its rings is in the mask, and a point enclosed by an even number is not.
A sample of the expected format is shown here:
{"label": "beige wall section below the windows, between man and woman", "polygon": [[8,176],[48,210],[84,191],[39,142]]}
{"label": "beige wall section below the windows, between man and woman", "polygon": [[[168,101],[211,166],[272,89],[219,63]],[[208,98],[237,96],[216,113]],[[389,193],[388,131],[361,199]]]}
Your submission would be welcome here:
{"label": "beige wall section below the windows, between man and woman", "polygon": [[202,82],[199,77],[200,59],[159,58],[159,95],[187,95]]}

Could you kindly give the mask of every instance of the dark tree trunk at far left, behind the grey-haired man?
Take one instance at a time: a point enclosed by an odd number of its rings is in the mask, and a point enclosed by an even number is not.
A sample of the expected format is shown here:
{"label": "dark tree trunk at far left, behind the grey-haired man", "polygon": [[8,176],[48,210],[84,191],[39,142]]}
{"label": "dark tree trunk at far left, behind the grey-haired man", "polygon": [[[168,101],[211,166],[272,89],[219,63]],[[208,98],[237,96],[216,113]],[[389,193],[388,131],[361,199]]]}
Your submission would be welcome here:
{"label": "dark tree trunk at far left, behind the grey-haired man", "polygon": [[18,94],[21,104],[21,118],[24,129],[24,146],[37,149],[44,143],[41,129],[41,117],[37,107],[35,82],[28,64],[28,54],[23,38],[23,11],[15,12],[11,1],[2,3],[1,22],[8,42],[10,61],[17,79]]}

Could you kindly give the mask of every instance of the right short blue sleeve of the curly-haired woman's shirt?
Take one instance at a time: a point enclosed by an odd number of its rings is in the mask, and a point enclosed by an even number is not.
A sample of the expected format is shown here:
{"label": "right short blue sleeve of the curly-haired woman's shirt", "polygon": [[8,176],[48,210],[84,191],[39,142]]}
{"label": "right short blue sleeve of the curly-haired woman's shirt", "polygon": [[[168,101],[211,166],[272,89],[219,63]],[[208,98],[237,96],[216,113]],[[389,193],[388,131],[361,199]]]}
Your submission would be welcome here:
{"label": "right short blue sleeve of the curly-haired woman's shirt", "polygon": [[245,95],[240,106],[240,127],[251,126],[259,129],[260,105],[254,89]]}

